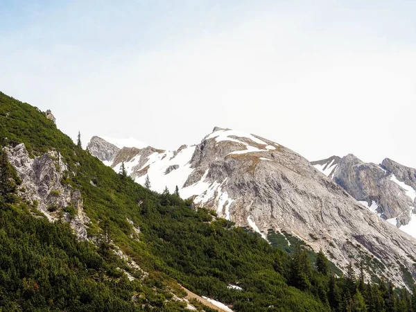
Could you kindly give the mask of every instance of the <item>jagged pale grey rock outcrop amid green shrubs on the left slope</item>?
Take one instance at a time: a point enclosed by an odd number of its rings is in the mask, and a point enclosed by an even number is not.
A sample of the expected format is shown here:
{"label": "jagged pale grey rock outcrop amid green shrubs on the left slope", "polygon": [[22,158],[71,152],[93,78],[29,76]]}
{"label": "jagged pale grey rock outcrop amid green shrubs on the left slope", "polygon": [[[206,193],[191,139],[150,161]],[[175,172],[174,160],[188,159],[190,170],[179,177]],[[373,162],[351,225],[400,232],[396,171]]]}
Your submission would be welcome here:
{"label": "jagged pale grey rock outcrop amid green shrubs on the left slope", "polygon": [[[30,200],[50,221],[64,218],[80,240],[87,239],[89,218],[83,212],[83,199],[77,189],[62,184],[67,165],[55,151],[31,159],[24,144],[6,148],[10,164],[22,180],[19,196]],[[67,207],[75,214],[71,216]]]}

